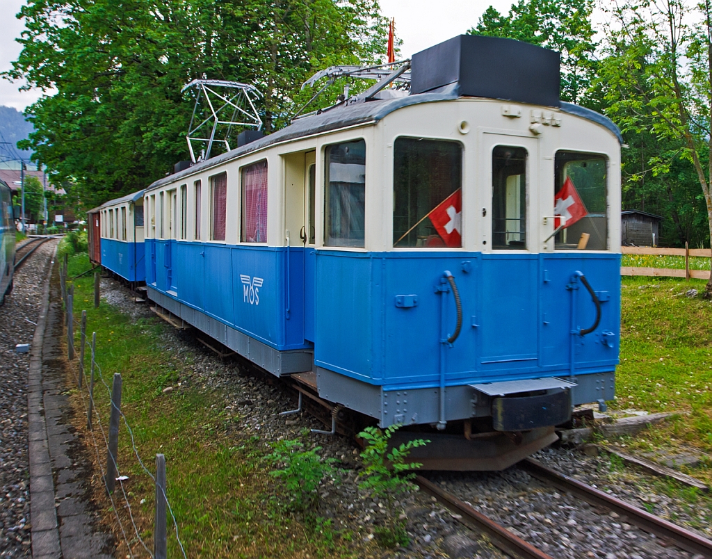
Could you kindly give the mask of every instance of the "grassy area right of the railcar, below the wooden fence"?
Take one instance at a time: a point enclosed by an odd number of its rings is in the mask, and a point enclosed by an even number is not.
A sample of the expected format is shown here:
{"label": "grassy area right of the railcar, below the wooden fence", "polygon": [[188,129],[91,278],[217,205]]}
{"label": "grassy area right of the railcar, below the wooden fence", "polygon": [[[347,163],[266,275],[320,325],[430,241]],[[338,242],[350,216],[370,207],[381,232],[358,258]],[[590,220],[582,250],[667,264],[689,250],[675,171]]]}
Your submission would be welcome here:
{"label": "grassy area right of the railcar, below the wooden fence", "polygon": [[[712,303],[702,298],[705,285],[694,279],[622,278],[612,407],[680,413],[627,442],[640,451],[685,445],[712,451]],[[698,296],[688,298],[690,289]],[[708,468],[695,475],[712,481]]]}

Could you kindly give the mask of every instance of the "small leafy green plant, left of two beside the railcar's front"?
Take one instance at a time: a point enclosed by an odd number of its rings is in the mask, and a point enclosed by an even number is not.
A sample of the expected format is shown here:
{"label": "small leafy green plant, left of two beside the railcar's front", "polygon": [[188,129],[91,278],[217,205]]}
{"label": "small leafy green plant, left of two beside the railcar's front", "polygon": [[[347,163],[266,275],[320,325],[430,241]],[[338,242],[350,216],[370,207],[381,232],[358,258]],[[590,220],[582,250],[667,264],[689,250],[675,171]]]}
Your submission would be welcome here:
{"label": "small leafy green plant, left of two beside the railcar's front", "polygon": [[316,503],[319,484],[327,476],[333,476],[333,458],[319,456],[320,446],[305,450],[298,441],[278,441],[272,444],[273,452],[266,458],[274,466],[280,466],[271,475],[281,479],[288,491],[290,502],[284,503],[287,510],[306,511]]}

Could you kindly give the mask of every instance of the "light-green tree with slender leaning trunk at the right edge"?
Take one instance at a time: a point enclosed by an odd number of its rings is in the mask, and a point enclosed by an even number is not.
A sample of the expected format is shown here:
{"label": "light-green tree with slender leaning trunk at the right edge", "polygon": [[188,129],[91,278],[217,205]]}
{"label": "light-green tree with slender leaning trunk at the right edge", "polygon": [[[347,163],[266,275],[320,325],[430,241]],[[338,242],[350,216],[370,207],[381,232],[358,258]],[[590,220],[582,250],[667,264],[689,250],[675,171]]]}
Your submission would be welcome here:
{"label": "light-green tree with slender leaning trunk at the right edge", "polygon": [[[712,239],[712,6],[680,0],[630,1],[611,12],[602,63],[609,114],[624,130],[649,130],[664,150],[648,161],[668,176],[676,160],[691,164],[705,202]],[[712,298],[712,278],[706,286]]]}

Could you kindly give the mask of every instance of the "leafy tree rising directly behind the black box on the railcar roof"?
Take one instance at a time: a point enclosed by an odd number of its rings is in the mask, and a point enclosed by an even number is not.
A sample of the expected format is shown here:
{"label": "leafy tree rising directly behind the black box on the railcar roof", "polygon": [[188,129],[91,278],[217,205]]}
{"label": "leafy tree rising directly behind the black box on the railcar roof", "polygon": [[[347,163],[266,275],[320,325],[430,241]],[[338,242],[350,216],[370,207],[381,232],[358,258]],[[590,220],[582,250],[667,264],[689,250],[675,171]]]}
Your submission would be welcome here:
{"label": "leafy tree rising directly behind the black box on the railcar roof", "polygon": [[468,34],[512,38],[560,51],[561,99],[597,108],[590,95],[596,71],[593,6],[593,0],[518,0],[507,16],[490,6]]}

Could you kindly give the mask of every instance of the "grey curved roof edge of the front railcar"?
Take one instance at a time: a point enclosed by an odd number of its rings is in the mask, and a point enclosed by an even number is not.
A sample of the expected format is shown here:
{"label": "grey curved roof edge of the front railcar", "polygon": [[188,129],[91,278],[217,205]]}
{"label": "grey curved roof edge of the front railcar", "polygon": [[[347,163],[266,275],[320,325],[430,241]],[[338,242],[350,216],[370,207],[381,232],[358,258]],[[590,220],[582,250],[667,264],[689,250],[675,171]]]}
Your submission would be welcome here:
{"label": "grey curved roof edge of the front railcar", "polygon": [[[419,105],[421,103],[435,103],[438,101],[455,100],[460,97],[459,87],[456,83],[454,83],[447,85],[434,93],[419,93],[417,95],[408,95],[407,97],[388,100],[372,100],[367,103],[357,103],[347,107],[336,106],[330,110],[323,111],[323,113],[300,118],[288,127],[262,137],[260,140],[250,142],[248,145],[238,147],[235,150],[217,155],[216,157],[211,157],[211,159],[194,164],[192,167],[184,169],[181,172],[170,174],[167,177],[158,179],[146,190],[161,187],[162,185],[174,182],[181,177],[186,177],[189,174],[209,169],[211,167],[216,167],[221,163],[234,160],[236,157],[260,150],[263,147],[268,147],[269,145],[273,145],[278,142],[296,140],[300,137],[340,130],[341,128],[350,126],[375,124],[383,117],[400,108],[408,107],[410,105]],[[619,128],[608,117],[605,117],[600,113],[596,113],[594,110],[580,107],[579,105],[573,105],[572,103],[562,102],[560,110],[564,113],[582,117],[602,125],[612,132],[620,143],[623,143],[623,138]],[[106,204],[114,202],[117,201],[107,202]]]}

